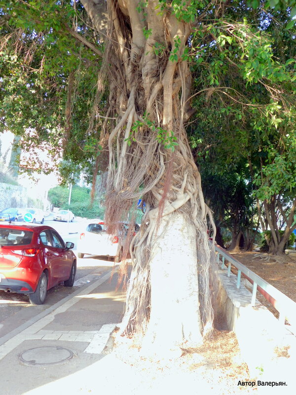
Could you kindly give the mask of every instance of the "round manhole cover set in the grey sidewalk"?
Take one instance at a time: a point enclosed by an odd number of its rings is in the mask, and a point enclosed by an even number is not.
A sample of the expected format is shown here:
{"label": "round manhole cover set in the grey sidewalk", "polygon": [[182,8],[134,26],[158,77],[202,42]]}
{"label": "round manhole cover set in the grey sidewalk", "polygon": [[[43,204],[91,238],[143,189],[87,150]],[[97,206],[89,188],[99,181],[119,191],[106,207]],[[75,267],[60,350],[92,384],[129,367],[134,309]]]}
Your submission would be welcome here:
{"label": "round manhole cover set in the grey sidewalk", "polygon": [[37,347],[24,351],[20,360],[26,365],[55,365],[73,357],[72,351],[63,347]]}

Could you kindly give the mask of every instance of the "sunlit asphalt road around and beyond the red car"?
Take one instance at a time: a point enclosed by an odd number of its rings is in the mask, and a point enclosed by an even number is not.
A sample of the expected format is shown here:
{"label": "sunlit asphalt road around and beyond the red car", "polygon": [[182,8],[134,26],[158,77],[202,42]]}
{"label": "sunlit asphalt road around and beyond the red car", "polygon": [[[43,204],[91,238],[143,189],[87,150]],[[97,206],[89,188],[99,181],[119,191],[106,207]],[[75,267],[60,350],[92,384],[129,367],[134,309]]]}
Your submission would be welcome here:
{"label": "sunlit asphalt road around and beyond the red car", "polygon": [[[54,228],[64,239],[74,243],[74,254],[77,256],[76,245],[81,232],[89,223],[88,220],[74,220],[74,222],[53,221],[50,214],[44,220],[44,225]],[[27,295],[6,293],[0,291],[0,337],[18,327],[28,319],[41,313],[59,300],[65,298],[84,284],[97,279],[107,273],[113,267],[114,262],[107,257],[89,256],[77,258],[77,271],[74,286],[65,287],[63,283],[47,291],[45,303],[39,306],[32,306]]]}

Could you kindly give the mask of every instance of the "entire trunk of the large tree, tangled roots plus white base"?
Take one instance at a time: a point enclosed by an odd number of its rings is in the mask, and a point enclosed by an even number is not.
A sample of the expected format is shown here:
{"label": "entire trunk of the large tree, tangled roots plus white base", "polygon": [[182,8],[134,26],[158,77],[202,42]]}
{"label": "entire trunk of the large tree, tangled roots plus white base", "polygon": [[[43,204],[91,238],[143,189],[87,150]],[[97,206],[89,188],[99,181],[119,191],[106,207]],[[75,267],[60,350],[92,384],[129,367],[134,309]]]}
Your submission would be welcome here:
{"label": "entire trunk of the large tree, tangled roots plus white base", "polygon": [[[83,0],[96,26],[94,3]],[[133,271],[121,330],[147,331],[149,343],[192,347],[213,321],[207,215],[215,225],[184,128],[191,80],[182,55],[190,26],[176,19],[169,4],[162,12],[153,0],[107,4],[110,25],[99,80],[109,81],[108,114],[116,118],[108,140],[110,233],[140,197],[147,204],[130,245]]]}

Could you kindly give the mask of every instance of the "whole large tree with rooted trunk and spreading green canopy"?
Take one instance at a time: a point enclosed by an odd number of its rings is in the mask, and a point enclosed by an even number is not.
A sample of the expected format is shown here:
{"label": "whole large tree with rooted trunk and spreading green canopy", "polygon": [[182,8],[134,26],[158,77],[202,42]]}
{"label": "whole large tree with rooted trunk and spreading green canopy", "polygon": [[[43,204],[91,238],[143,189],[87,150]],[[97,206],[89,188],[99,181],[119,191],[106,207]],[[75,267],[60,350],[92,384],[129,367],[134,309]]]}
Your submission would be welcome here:
{"label": "whole large tree with rooted trunk and spreading green canopy", "polygon": [[[53,155],[61,147],[92,173],[95,153],[108,150],[110,232],[139,197],[147,204],[131,244],[122,333],[145,332],[144,344],[157,351],[195,346],[213,321],[207,215],[214,224],[185,132],[194,112],[191,70],[195,95],[205,92],[204,101],[220,102],[234,119],[249,109],[249,118],[257,114],[276,128],[272,108],[292,125],[295,73],[292,63],[277,60],[262,24],[280,13],[292,36],[294,3],[273,1],[271,13],[268,1],[259,7],[256,0],[254,9],[241,1],[108,0],[106,36],[99,4],[0,2],[2,125],[13,128],[15,116],[19,134],[34,129],[23,141],[50,140]],[[79,52],[74,40],[83,44]],[[240,110],[232,111],[234,103]],[[230,132],[237,129],[231,125]],[[227,140],[225,130],[219,133],[218,141]],[[242,136],[245,146],[247,132]],[[232,153],[231,136],[228,142]]]}

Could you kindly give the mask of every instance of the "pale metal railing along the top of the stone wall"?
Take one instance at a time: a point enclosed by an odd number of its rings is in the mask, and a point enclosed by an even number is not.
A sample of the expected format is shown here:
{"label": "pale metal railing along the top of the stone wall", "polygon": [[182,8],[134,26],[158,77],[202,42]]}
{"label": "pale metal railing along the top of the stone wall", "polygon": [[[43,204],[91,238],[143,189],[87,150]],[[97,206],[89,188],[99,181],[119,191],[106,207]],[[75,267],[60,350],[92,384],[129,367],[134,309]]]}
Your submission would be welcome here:
{"label": "pale metal railing along the top of the stone wall", "polygon": [[[211,240],[210,245],[212,245]],[[256,273],[252,272],[252,270],[248,269],[237,259],[233,258],[227,251],[217,244],[215,244],[215,251],[217,253],[217,263],[218,265],[221,265],[221,269],[227,269],[228,277],[230,276],[231,265],[236,267],[238,270],[236,281],[236,287],[238,289],[240,288],[241,276],[247,278],[247,280],[253,284],[251,306],[255,306],[256,294],[258,291],[279,312],[279,321],[281,323],[285,323],[285,319],[287,319],[291,325],[296,325],[296,302],[290,299],[287,295],[283,294],[273,285],[269,284]],[[225,265],[225,260],[228,261],[228,267]]]}

